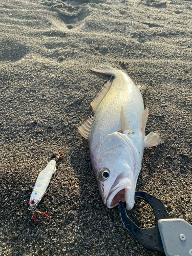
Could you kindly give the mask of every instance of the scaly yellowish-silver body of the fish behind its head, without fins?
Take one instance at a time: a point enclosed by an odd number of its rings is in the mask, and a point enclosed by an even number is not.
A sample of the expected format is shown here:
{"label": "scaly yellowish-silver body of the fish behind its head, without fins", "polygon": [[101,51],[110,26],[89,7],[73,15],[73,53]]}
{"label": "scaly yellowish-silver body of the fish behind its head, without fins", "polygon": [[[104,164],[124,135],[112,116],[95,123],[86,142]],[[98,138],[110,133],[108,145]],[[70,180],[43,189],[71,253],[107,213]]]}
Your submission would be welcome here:
{"label": "scaly yellowish-silver body of the fish behind its head, without fins", "polygon": [[[92,142],[92,148],[104,140],[106,135],[118,132],[121,129],[121,106],[123,106],[125,115],[129,120],[130,128],[134,132],[132,135],[134,137],[133,139],[138,141],[140,138],[137,138],[137,136],[141,137],[140,133],[136,133],[140,130],[144,111],[141,93],[131,78],[124,72],[113,70],[113,76],[115,79],[97,108],[94,123],[90,130],[88,140]],[[101,128],[98,129],[98,127]]]}

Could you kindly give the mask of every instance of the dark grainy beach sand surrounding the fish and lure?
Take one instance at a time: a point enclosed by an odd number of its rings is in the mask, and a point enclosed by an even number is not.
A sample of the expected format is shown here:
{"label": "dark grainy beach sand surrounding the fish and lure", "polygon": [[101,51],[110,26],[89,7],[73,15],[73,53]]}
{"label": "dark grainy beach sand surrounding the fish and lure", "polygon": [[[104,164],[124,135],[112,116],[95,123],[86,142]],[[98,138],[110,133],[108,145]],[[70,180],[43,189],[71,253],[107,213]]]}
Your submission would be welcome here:
{"label": "dark grainy beach sand surrounding the fish and lure", "polygon": [[[88,143],[77,132],[108,79],[89,69],[118,66],[133,4],[1,1],[1,255],[162,255],[131,236],[118,207],[103,204]],[[136,1],[131,39],[118,66],[143,86],[150,110],[146,134],[164,136],[163,144],[144,150],[137,190],[156,196],[171,217],[189,223],[191,14],[191,1]],[[51,223],[44,225],[37,214],[35,226],[27,210],[35,180],[61,150],[56,181],[38,205]],[[155,223],[141,201],[130,216],[141,227]]]}

